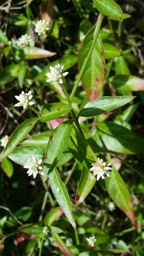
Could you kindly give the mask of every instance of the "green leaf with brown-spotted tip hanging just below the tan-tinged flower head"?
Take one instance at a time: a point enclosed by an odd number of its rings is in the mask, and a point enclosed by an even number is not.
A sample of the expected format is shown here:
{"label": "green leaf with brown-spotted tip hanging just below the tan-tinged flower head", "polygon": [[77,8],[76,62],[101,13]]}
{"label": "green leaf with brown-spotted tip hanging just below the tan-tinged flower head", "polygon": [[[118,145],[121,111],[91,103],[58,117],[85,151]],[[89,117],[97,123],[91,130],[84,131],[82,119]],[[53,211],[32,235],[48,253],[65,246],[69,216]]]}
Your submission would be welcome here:
{"label": "green leaf with brown-spotted tip hanging just below the tan-tinged flower head", "polygon": [[87,168],[83,168],[75,196],[76,208],[84,201],[85,197],[90,193],[95,183],[96,177],[94,177]]}

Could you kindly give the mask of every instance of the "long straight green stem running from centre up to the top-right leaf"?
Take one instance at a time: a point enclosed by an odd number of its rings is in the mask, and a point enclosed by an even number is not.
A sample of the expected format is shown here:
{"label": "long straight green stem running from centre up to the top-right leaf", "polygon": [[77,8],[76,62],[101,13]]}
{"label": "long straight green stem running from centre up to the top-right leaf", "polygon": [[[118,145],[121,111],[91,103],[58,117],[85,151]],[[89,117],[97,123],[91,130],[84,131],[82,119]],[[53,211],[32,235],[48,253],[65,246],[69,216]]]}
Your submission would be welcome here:
{"label": "long straight green stem running from centre up to the top-right leaf", "polygon": [[85,59],[85,61],[84,61],[84,65],[83,65],[83,67],[82,67],[82,69],[81,69],[81,71],[80,71],[80,73],[79,73],[79,75],[78,75],[78,78],[77,78],[77,80],[76,80],[76,83],[75,83],[75,85],[74,85],[74,87],[73,87],[73,89],[72,89],[72,93],[71,93],[71,97],[70,97],[71,102],[72,102],[72,99],[73,99],[74,94],[75,94],[75,92],[76,92],[76,89],[77,89],[77,87],[78,87],[78,84],[79,84],[79,82],[81,81],[82,75],[83,75],[84,70],[85,70],[85,67],[86,67],[86,65],[87,65],[87,62],[89,61],[90,56],[91,56],[91,54],[92,54],[92,52],[93,52],[93,49],[94,49],[94,47],[95,47],[96,40],[97,40],[97,37],[98,37],[98,34],[99,34],[99,30],[100,30],[100,27],[101,27],[103,18],[104,18],[104,15],[100,13],[99,16],[98,16],[97,22],[96,22],[96,28],[95,28],[95,33],[94,33],[93,44],[92,44],[92,46],[91,46],[91,48],[90,48],[90,51],[89,51],[89,53],[88,53],[88,55],[87,55],[87,57],[86,57],[86,59]]}

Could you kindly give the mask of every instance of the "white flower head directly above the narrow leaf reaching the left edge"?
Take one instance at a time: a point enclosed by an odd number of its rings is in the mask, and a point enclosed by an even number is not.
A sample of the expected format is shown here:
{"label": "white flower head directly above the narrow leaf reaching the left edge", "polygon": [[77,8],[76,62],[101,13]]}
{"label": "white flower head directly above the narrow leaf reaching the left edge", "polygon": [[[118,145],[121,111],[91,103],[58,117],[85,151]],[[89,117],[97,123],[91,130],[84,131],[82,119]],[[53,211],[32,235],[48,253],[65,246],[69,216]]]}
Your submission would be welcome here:
{"label": "white flower head directly above the narrow leaf reaching the left edge", "polygon": [[24,109],[26,109],[27,106],[32,106],[35,104],[34,101],[31,101],[31,99],[33,98],[32,91],[29,91],[28,93],[24,93],[24,91],[22,91],[19,96],[14,97],[19,100],[19,102],[16,103],[14,107],[23,107]]}

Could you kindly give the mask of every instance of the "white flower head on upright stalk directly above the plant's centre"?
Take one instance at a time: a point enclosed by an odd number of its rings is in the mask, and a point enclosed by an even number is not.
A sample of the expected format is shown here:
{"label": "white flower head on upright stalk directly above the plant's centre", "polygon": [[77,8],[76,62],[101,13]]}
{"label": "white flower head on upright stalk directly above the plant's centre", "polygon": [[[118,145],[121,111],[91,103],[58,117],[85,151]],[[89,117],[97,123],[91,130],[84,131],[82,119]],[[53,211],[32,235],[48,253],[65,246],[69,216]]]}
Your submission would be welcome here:
{"label": "white flower head on upright stalk directly above the plant's centre", "polygon": [[63,84],[62,78],[65,77],[69,72],[64,72],[64,66],[60,67],[60,64],[56,65],[55,67],[50,68],[50,73],[46,73],[48,76],[48,80],[46,82],[55,82],[58,81],[60,84]]}

